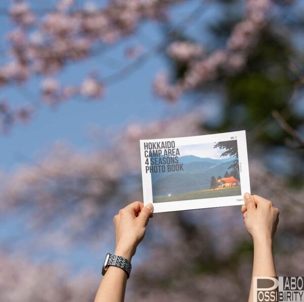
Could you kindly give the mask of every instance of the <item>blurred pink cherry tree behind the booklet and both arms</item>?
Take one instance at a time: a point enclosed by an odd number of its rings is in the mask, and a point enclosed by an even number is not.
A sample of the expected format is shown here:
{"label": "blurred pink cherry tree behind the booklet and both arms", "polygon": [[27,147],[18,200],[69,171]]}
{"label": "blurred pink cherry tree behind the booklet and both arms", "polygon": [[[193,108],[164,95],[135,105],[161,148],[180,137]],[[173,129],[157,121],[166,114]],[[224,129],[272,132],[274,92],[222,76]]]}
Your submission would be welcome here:
{"label": "blurred pink cherry tree behind the booklet and both arms", "polygon": [[[55,146],[36,164],[3,177],[1,213],[30,209],[27,224],[40,231],[31,243],[33,255],[38,243],[56,249],[75,241],[93,249],[96,241],[107,242],[108,237],[113,243],[113,213],[142,199],[138,140],[205,134],[201,123],[200,114],[193,113],[145,127],[132,124],[112,147],[90,156]],[[278,274],[299,274],[303,190],[288,187],[259,159],[250,161],[250,176],[252,192],[270,198],[281,210],[275,243]],[[54,221],[57,228],[50,231]],[[248,295],[252,241],[238,207],[155,215],[141,248],[144,254],[134,264],[127,301],[235,301]],[[1,256],[0,291],[14,301],[90,300],[100,280],[99,273],[75,276],[62,265],[32,264],[24,256],[16,261],[17,256]]]}

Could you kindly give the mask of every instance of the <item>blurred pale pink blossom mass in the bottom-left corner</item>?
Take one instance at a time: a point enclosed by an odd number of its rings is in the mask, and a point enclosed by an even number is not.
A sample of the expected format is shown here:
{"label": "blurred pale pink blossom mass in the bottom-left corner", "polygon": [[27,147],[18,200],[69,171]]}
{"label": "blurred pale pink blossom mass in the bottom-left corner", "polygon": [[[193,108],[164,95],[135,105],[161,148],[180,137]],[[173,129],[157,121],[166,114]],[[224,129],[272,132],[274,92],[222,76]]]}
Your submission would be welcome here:
{"label": "blurred pale pink blossom mass in the bottom-left corner", "polygon": [[0,267],[0,291],[4,301],[63,302],[68,299],[81,302],[93,300],[95,296],[97,280],[91,273],[69,278],[67,267],[33,264],[21,253],[13,256],[2,252]]}

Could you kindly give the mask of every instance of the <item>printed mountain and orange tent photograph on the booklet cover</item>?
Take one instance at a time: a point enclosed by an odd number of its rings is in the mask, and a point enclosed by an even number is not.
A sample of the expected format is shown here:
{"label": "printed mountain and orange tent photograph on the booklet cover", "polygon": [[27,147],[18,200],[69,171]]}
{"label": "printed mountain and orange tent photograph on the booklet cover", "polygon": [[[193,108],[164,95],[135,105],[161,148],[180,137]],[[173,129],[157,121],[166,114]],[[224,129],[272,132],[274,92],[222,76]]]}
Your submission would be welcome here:
{"label": "printed mountain and orange tent photograph on the booklet cover", "polygon": [[237,140],[175,146],[176,152],[150,154],[152,170],[167,168],[151,173],[154,203],[241,194]]}

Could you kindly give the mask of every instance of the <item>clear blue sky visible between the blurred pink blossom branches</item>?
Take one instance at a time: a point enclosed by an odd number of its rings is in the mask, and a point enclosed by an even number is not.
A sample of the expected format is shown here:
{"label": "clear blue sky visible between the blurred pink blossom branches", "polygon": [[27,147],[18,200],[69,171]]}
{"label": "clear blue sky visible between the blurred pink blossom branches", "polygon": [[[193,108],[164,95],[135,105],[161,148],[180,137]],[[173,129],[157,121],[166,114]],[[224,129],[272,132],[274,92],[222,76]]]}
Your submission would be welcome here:
{"label": "clear blue sky visible between the blurred pink blossom branches", "polygon": [[[31,4],[35,8],[43,7],[37,1],[31,1]],[[197,1],[191,1],[187,6],[176,6],[172,11],[173,20],[182,20],[198,4]],[[50,3],[48,7],[51,7]],[[210,19],[216,12],[217,10],[209,5],[208,9],[206,6],[203,15]],[[0,22],[0,37],[5,41],[6,33],[12,28],[12,24],[4,15],[1,16]],[[191,34],[193,31],[195,34],[196,30],[189,24],[188,33]],[[138,45],[138,37],[144,39],[147,49],[163,39],[160,25],[151,22],[141,26],[136,36],[123,41],[119,46],[109,48],[105,55],[68,65],[55,78],[66,84],[80,83],[90,71],[96,69],[99,70],[101,77],[106,77],[119,70],[121,64],[128,63],[122,54],[126,47]],[[204,39],[208,40],[210,37],[206,35]],[[0,137],[0,170],[13,171],[22,163],[34,162],[37,156],[57,141],[67,142],[77,150],[92,150],[96,147],[90,139],[90,132],[93,129],[102,132],[109,127],[117,127],[120,130],[124,124],[131,121],[146,123],[189,109],[191,105],[187,104],[185,97],[177,104],[169,105],[155,97],[151,91],[155,75],[158,71],[166,69],[167,64],[162,54],[151,57],[126,79],[106,86],[105,95],[101,100],[77,98],[56,108],[40,106],[27,125],[18,124],[8,135]],[[7,87],[1,90],[0,98],[8,100],[11,104],[35,102],[39,95],[40,83],[40,78],[33,78],[23,86]]]}

